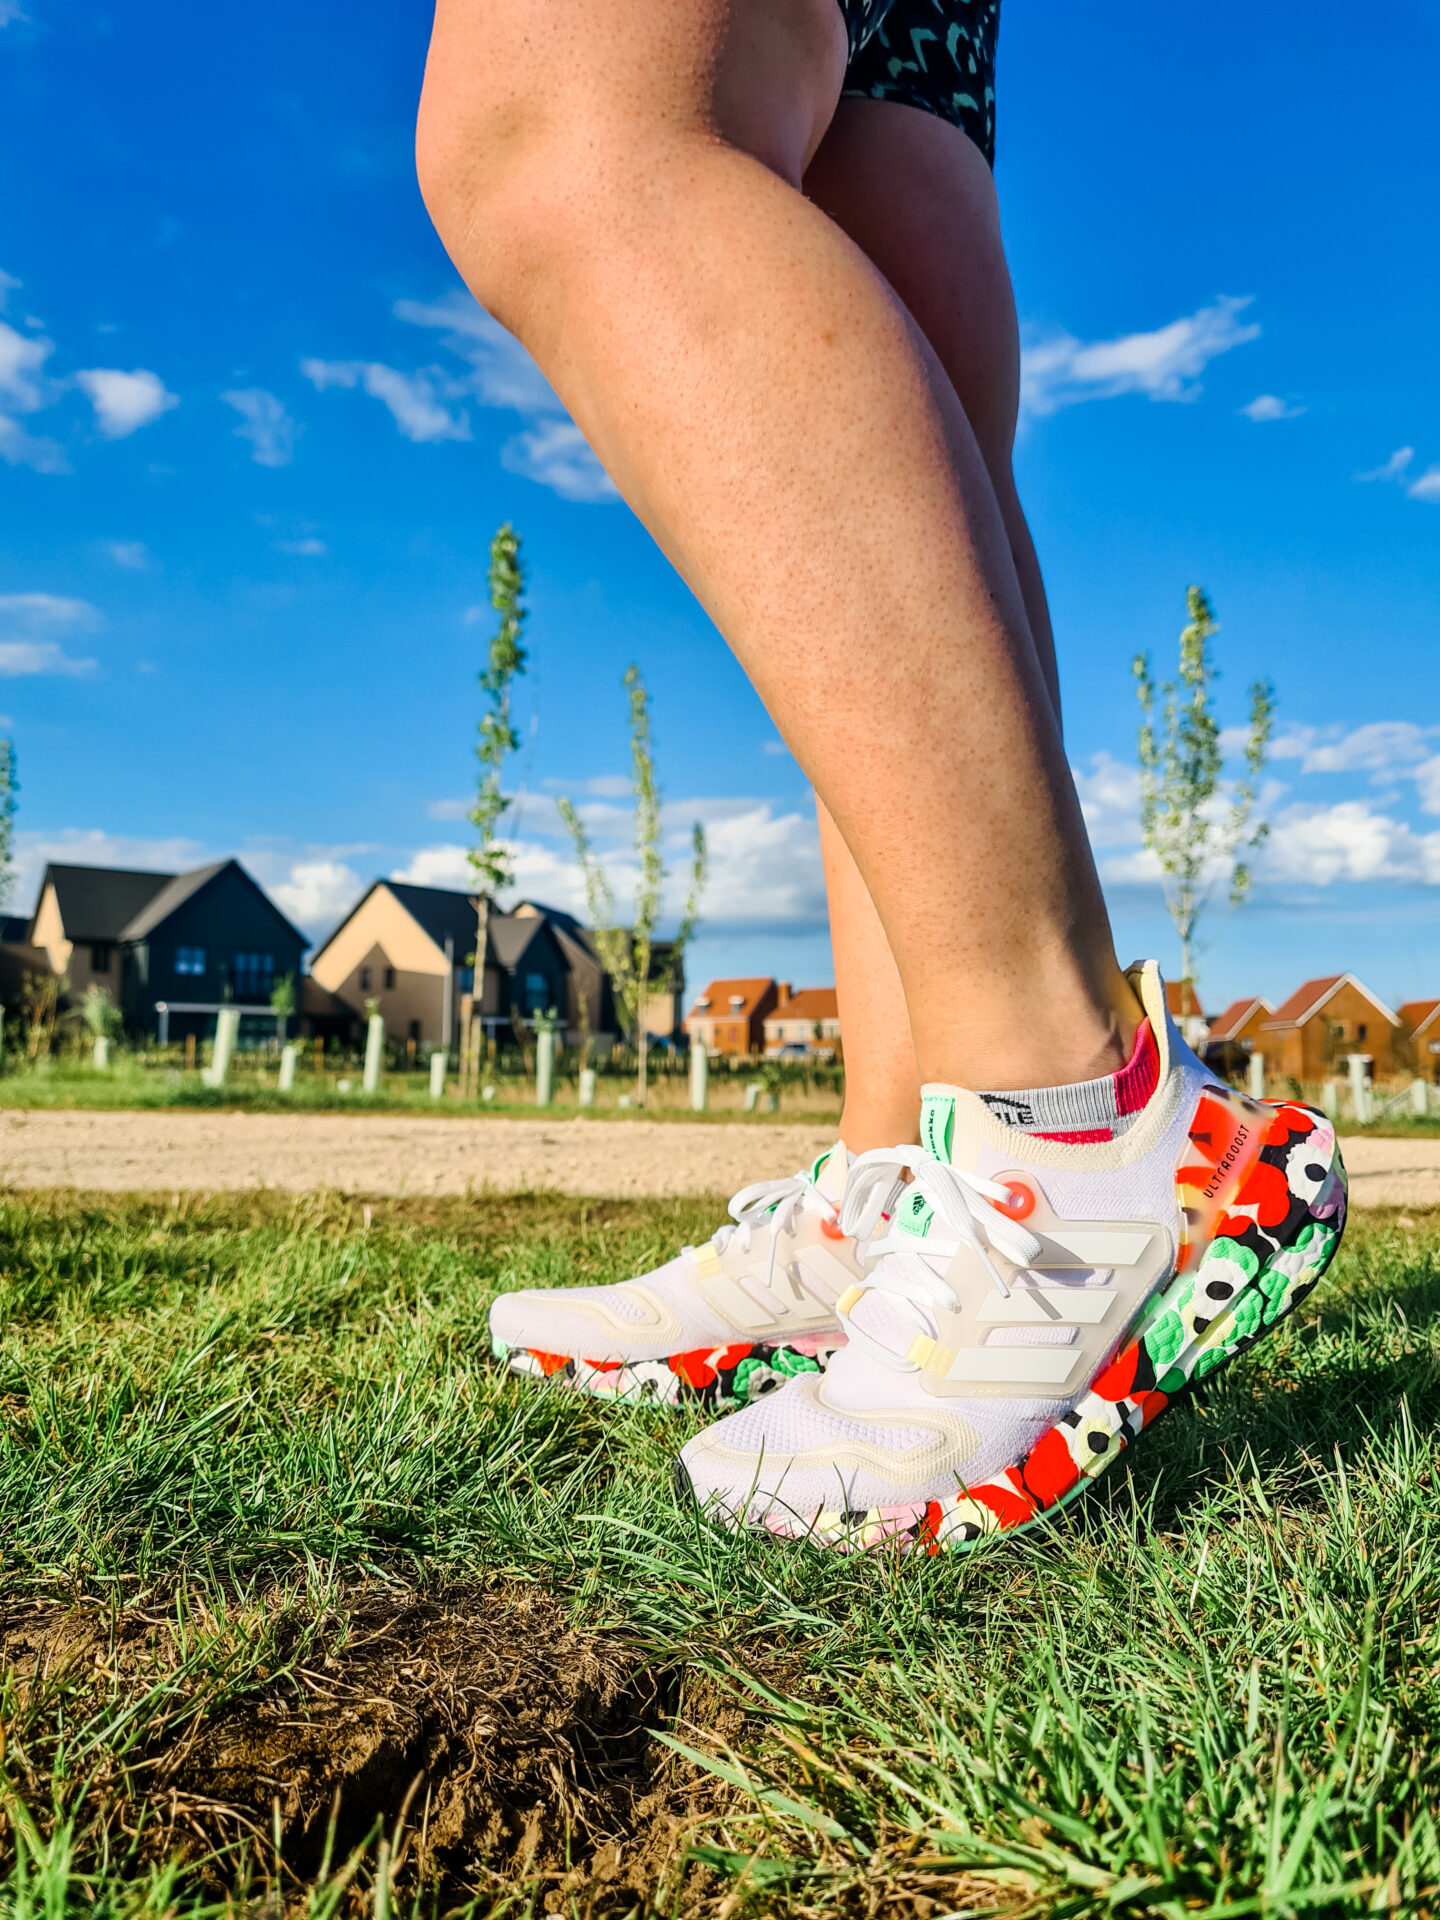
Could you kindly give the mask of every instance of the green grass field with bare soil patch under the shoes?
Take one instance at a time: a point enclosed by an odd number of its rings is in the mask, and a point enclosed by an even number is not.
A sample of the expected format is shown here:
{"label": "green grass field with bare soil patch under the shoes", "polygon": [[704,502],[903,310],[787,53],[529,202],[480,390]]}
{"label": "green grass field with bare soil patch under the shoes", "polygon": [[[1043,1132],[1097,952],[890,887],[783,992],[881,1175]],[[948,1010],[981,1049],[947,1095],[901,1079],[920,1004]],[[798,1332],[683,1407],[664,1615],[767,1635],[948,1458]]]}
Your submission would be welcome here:
{"label": "green grass field with bare soil patch under the shoes", "polygon": [[1052,1532],[854,1561],[488,1359],[716,1215],[0,1206],[0,1912],[1440,1912],[1440,1215]]}

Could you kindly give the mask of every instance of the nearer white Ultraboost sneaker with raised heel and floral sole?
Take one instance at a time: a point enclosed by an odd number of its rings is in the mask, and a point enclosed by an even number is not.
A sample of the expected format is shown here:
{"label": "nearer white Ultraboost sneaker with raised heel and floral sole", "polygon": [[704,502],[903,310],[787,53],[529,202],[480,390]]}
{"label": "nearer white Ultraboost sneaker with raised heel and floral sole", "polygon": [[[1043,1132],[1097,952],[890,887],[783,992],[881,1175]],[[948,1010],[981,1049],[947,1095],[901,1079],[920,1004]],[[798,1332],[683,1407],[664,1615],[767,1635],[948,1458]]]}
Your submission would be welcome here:
{"label": "nearer white Ultraboost sneaker with raised heel and floral sole", "polygon": [[851,1164],[843,1225],[891,1227],[841,1296],[849,1344],[689,1442],[678,1480],[714,1519],[931,1553],[1027,1526],[1315,1286],[1346,1212],[1331,1123],[1217,1085],[1154,964],[1131,983],[1160,1060],[1119,1139],[927,1087],[925,1150]]}

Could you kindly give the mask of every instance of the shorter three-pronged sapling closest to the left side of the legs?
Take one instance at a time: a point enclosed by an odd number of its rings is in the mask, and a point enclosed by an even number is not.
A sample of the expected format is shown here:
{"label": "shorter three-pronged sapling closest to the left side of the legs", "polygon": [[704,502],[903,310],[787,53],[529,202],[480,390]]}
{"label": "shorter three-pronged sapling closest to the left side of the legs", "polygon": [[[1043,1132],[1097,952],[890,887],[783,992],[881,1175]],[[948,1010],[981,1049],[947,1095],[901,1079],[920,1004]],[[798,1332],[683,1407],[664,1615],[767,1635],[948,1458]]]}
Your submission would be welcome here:
{"label": "shorter three-pronged sapling closest to the left side of the legs", "polygon": [[586,908],[595,935],[595,948],[605,968],[620,1021],[636,1041],[639,1056],[637,1100],[645,1104],[645,1066],[649,1058],[649,998],[657,993],[672,993],[685,947],[695,933],[699,920],[701,893],[705,891],[707,847],[705,828],[695,822],[689,835],[689,889],[680,914],[680,927],[670,943],[670,954],[657,972],[653,966],[655,927],[660,918],[660,895],[664,891],[664,847],[660,831],[660,789],[655,781],[655,760],[651,756],[651,708],[645,682],[639,668],[626,668],[624,689],[630,697],[630,785],[636,795],[636,837],[634,847],[639,856],[639,876],[636,879],[636,912],[630,927],[620,925],[614,910],[614,893],[605,868],[595,856],[584,822],[572,803],[559,801],[561,818],[570,829],[580,872],[586,881]]}

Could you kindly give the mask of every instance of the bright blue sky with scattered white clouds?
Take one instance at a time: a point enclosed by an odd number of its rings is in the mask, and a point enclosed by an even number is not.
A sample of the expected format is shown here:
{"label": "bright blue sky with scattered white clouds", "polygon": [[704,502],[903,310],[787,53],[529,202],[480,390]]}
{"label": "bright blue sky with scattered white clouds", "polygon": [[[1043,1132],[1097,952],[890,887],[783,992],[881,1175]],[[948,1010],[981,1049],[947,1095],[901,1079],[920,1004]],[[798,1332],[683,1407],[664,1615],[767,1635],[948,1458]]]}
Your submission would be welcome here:
{"label": "bright blue sky with scattered white clouds", "polygon": [[[703,818],[714,849],[691,979],[828,979],[803,774],[424,217],[424,10],[0,0],[0,23],[15,904],[46,858],[238,852],[317,931],[374,874],[463,883],[486,541],[513,518],[524,891],[578,904],[566,791],[624,897],[636,659],[676,839]],[[1425,0],[1006,0],[1018,472],[1123,958],[1173,958],[1133,653],[1169,659],[1198,580],[1225,716],[1256,672],[1279,691],[1215,1000],[1346,968],[1440,993],[1438,65]]]}

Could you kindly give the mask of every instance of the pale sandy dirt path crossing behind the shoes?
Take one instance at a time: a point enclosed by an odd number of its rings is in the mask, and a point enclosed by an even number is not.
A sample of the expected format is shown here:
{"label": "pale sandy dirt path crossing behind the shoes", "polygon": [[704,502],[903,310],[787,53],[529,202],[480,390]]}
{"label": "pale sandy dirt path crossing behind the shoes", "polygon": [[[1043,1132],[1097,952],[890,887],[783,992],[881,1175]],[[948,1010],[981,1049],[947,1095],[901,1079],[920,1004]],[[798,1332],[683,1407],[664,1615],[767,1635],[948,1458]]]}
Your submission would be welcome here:
{"label": "pale sandy dirt path crossing behind the shoes", "polygon": [[[382,1114],[0,1112],[0,1185],[102,1192],[733,1192],[808,1165],[824,1127]],[[1440,1206],[1440,1140],[1346,1140],[1357,1206]]]}

